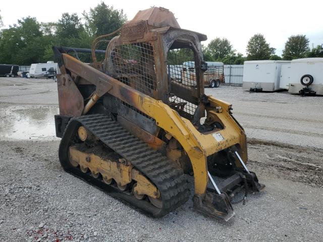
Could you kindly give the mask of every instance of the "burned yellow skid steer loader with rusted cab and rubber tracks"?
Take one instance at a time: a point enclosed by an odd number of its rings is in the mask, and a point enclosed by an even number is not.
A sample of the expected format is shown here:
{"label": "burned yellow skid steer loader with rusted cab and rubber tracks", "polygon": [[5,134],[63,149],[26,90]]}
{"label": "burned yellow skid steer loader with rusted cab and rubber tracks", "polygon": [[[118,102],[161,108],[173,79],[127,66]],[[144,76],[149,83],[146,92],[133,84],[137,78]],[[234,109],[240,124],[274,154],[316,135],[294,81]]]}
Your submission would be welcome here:
{"label": "burned yellow skid steer loader with rusted cab and rubber tracks", "polygon": [[[264,186],[245,165],[246,135],[231,104],[204,94],[203,40],[151,8],[96,38],[89,65],[76,53],[86,50],[53,47],[64,169],[154,217],[188,200],[191,174],[195,209],[228,221],[238,192]],[[106,51],[96,50],[103,42]]]}

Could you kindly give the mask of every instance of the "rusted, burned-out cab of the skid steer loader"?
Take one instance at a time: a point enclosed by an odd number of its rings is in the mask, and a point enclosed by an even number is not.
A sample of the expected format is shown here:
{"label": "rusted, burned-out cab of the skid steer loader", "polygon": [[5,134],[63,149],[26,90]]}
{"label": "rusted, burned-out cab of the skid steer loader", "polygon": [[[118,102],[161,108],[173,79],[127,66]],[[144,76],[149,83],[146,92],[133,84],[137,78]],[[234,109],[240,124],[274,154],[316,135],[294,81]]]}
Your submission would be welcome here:
{"label": "rusted, burned-out cab of the skid steer loader", "polygon": [[[174,15],[166,9],[140,11],[133,20],[123,25],[120,36],[110,41],[103,72],[164,103],[170,103],[172,94],[190,99],[187,101],[192,103],[188,104],[192,110],[186,116],[192,117],[193,105],[198,105],[199,97],[204,93],[203,83],[199,81],[203,61],[199,41],[204,39],[205,35],[180,29]],[[183,85],[178,86],[169,80],[168,52],[175,48],[190,48],[194,52],[190,61],[195,62],[194,79],[197,85],[193,88],[182,89]],[[149,74],[152,70],[154,73]],[[151,80],[150,86],[149,82],[139,81],[146,79]]]}

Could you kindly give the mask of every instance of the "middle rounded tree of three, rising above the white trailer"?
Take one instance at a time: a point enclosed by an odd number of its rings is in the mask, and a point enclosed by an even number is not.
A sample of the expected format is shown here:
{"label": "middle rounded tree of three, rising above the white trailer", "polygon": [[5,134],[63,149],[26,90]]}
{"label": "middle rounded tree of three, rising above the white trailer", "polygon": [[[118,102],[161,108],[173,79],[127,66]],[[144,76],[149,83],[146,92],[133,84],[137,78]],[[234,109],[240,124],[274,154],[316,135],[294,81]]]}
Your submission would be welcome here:
{"label": "middle rounded tree of three, rising above the white trailer", "polygon": [[269,59],[275,53],[275,48],[271,48],[262,34],[253,35],[247,44],[247,60]]}

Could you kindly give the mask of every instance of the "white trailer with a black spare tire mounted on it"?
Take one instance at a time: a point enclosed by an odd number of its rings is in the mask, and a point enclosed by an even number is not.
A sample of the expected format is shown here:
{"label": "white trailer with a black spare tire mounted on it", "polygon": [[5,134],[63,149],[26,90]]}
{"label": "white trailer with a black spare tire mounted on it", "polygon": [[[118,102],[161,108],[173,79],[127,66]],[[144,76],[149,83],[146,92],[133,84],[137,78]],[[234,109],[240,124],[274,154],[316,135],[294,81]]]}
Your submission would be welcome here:
{"label": "white trailer with a black spare tire mounted on it", "polygon": [[323,95],[323,58],[293,59],[288,92]]}

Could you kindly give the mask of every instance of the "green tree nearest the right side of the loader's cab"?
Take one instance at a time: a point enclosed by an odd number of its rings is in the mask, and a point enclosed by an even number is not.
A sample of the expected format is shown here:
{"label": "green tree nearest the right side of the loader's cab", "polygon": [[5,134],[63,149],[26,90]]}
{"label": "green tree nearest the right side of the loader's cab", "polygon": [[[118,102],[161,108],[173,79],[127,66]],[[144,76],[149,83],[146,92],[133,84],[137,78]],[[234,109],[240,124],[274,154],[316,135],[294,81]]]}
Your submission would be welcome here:
{"label": "green tree nearest the right side of the loader's cab", "polygon": [[207,45],[207,49],[214,60],[221,60],[234,52],[230,41],[226,38],[212,39]]}

